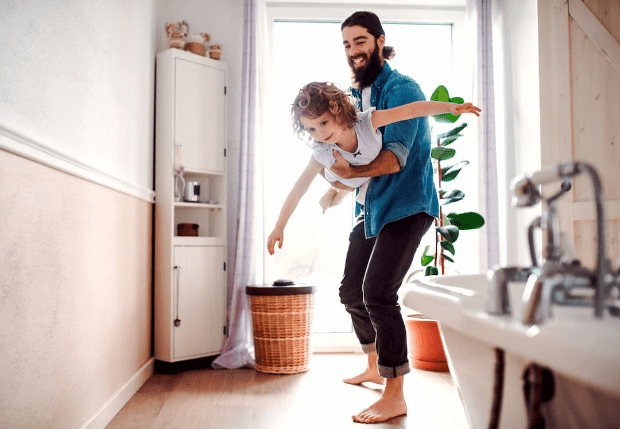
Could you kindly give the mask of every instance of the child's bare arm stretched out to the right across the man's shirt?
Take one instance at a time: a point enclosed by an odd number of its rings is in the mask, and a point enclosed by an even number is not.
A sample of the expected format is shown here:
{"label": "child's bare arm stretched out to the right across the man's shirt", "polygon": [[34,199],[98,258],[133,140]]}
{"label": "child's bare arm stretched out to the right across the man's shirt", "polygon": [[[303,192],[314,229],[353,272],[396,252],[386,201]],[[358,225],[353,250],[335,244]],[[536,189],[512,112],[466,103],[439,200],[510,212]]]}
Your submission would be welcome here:
{"label": "child's bare arm stretched out to the right across the man's shirt", "polygon": [[471,103],[456,104],[443,101],[414,101],[413,103],[403,104],[391,109],[375,110],[372,112],[371,121],[373,128],[376,130],[394,122],[442,113],[452,113],[453,115],[473,113],[476,116],[480,116],[480,108]]}

